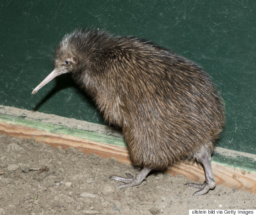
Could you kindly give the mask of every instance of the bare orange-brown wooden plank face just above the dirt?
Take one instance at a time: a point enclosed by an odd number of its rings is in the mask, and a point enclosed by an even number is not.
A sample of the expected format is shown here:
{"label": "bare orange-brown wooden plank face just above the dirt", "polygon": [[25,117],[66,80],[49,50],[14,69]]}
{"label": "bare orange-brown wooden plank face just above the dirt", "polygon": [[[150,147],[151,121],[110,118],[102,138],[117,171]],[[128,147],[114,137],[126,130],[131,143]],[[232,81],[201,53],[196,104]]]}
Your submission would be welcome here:
{"label": "bare orange-brown wooden plank face just above the dirt", "polygon": [[[63,149],[74,147],[76,149],[81,149],[85,154],[90,154],[92,152],[103,158],[114,157],[118,162],[132,163],[129,158],[128,149],[123,146],[99,143],[78,136],[46,132],[5,122],[0,122],[0,133],[27,139],[33,138],[38,142],[44,142],[54,148],[57,148],[58,146],[62,146]],[[255,172],[246,172],[240,169],[224,167],[215,162],[212,162],[212,169],[217,185],[223,184],[226,187],[256,193]],[[167,172],[173,176],[181,174],[187,179],[194,181],[203,182],[205,178],[203,167],[199,166],[197,163],[177,162],[172,167],[169,167]]]}

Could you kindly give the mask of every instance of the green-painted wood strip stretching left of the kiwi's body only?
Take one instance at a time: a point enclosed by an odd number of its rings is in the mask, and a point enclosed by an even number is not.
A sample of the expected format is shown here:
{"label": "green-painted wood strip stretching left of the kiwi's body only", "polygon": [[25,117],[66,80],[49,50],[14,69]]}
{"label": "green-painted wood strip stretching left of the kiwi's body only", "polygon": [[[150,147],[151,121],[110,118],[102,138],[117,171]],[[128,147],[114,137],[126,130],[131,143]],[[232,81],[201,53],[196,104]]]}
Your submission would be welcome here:
{"label": "green-painted wood strip stretching left of the kiwi's body only", "polygon": [[43,123],[40,121],[35,121],[35,120],[26,119],[22,117],[13,117],[6,114],[0,114],[0,121],[5,123],[12,123],[15,125],[32,127],[45,132],[73,135],[86,140],[93,140],[93,141],[104,143],[104,144],[127,147],[123,138],[120,138],[114,135],[104,135],[96,132],[90,132],[90,131],[70,128],[70,127],[65,127],[62,125]]}

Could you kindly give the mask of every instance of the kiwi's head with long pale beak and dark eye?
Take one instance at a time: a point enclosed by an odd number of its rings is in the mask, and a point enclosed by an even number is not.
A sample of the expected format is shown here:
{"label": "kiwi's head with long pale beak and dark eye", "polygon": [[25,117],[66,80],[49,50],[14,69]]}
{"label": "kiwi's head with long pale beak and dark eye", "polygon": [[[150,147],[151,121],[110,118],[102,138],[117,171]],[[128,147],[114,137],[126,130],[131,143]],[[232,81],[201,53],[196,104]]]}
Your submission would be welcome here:
{"label": "kiwi's head with long pale beak and dark eye", "polygon": [[89,82],[90,77],[95,78],[104,71],[103,68],[107,63],[112,63],[113,59],[109,59],[113,55],[111,49],[113,49],[113,39],[105,31],[79,29],[65,35],[55,50],[54,70],[33,90],[32,94],[64,73],[71,73],[77,83]]}

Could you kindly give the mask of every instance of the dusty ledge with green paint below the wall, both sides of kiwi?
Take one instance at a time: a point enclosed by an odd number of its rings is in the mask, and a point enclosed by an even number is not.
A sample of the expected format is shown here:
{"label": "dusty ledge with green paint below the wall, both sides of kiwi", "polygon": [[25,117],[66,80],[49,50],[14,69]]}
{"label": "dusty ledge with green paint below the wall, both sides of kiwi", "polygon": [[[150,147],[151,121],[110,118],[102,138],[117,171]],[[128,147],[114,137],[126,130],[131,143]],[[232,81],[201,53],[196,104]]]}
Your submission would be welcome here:
{"label": "dusty ledge with green paint below the wall, both sides of kiwi", "polygon": [[[120,130],[74,118],[65,118],[53,114],[44,114],[0,105],[0,121],[127,148]],[[225,167],[256,172],[255,154],[217,146],[212,154],[212,162],[219,163]]]}

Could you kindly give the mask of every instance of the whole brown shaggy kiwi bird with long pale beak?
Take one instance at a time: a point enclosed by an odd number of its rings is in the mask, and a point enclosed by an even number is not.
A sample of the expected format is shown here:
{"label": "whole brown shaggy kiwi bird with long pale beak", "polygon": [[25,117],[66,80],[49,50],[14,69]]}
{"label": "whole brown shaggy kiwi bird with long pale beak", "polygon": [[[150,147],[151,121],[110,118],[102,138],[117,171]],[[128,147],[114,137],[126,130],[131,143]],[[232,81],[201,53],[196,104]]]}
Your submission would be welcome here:
{"label": "whole brown shaggy kiwi bird with long pale beak", "polygon": [[118,188],[141,184],[187,158],[203,165],[202,195],[215,188],[211,155],[225,124],[224,104],[207,73],[194,62],[144,39],[100,30],[75,30],[55,50],[54,70],[35,94],[58,75],[70,73],[91,95],[105,120],[122,128],[135,165],[142,170]]}

